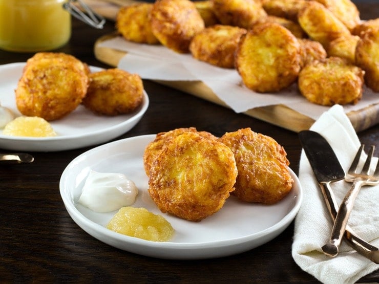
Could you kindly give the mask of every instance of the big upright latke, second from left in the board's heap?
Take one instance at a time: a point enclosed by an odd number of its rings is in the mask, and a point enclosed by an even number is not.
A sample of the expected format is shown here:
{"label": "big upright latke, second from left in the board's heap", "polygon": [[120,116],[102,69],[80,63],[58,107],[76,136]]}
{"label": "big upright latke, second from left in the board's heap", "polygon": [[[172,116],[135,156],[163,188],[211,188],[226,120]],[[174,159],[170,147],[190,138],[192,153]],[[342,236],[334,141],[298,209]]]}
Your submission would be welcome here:
{"label": "big upright latke, second from left in the board's heap", "polygon": [[205,28],[189,0],[157,0],[150,15],[153,34],[162,45],[178,53],[188,53],[192,38]]}

